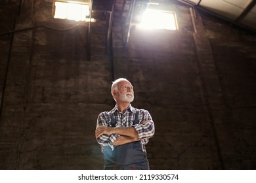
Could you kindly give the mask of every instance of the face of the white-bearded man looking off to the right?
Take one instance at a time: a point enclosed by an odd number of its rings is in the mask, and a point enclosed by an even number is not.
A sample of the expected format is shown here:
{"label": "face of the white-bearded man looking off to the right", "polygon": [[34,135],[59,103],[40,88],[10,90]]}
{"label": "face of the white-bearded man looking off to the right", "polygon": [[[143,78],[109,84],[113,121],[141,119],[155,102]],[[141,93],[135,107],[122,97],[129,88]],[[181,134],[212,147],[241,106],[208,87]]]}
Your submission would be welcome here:
{"label": "face of the white-bearded man looking off to the right", "polygon": [[134,99],[133,86],[130,82],[121,81],[117,84],[117,97],[119,101],[131,103]]}

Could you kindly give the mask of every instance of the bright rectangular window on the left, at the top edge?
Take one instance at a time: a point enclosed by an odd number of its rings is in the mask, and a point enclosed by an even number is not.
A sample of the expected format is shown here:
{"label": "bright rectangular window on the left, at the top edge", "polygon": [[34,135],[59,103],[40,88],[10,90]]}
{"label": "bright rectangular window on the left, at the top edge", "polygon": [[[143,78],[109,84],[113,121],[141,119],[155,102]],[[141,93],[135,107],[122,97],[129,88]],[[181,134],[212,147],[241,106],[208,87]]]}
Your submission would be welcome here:
{"label": "bright rectangular window on the left, at the top edge", "polygon": [[79,2],[55,1],[54,18],[85,21],[89,16],[89,5]]}

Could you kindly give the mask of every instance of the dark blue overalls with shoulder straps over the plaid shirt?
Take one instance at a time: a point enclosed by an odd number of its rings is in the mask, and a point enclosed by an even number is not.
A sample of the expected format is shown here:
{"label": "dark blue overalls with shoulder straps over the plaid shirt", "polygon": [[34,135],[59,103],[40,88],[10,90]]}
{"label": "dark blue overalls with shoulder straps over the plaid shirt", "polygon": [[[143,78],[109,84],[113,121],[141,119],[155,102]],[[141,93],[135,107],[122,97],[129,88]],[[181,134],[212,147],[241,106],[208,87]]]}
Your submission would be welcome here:
{"label": "dark blue overalls with shoulder straps over the plaid shirt", "polygon": [[[110,114],[111,126],[116,127],[116,119]],[[139,124],[139,110],[135,114],[133,125]],[[120,146],[103,146],[104,169],[149,169],[146,152],[142,150],[140,141],[130,142]]]}

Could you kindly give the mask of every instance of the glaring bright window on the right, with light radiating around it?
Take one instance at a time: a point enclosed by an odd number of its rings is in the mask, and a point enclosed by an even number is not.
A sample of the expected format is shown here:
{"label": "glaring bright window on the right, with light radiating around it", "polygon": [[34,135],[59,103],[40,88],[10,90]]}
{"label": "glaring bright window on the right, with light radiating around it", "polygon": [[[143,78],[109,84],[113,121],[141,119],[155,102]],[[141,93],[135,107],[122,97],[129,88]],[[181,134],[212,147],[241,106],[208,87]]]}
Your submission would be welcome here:
{"label": "glaring bright window on the right, with light radiating around it", "polygon": [[177,21],[174,12],[155,9],[146,9],[142,15],[140,27],[146,29],[177,30]]}

